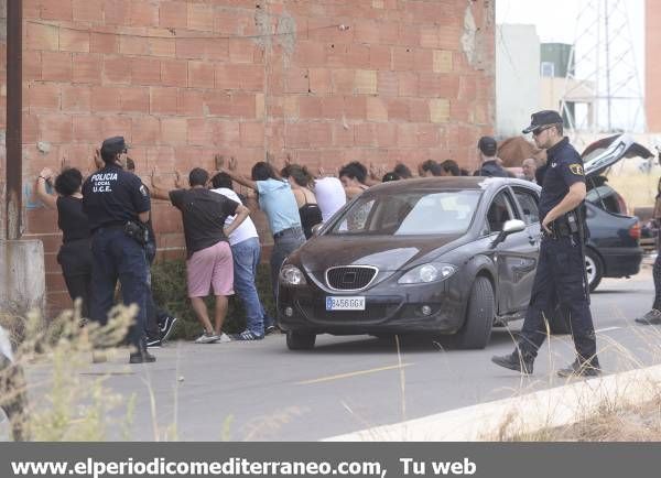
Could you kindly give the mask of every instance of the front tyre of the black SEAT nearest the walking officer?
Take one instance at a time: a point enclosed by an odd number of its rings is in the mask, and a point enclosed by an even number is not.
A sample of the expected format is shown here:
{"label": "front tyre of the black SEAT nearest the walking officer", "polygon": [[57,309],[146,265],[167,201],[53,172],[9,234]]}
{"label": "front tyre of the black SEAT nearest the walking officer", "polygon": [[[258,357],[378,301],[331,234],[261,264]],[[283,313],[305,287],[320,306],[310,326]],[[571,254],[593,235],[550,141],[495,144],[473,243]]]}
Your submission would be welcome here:
{"label": "front tyre of the black SEAT nearest the walking officer", "polygon": [[477,276],[468,297],[466,321],[453,337],[453,343],[462,349],[483,349],[491,338],[496,304],[494,286],[485,276]]}

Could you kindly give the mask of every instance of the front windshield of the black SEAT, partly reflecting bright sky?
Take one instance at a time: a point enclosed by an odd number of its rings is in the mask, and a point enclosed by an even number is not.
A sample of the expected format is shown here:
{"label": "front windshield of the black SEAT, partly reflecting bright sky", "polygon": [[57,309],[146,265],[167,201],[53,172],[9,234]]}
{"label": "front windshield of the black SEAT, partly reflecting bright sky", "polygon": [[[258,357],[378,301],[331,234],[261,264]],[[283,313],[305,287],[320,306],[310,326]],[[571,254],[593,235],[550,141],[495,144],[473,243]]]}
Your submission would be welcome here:
{"label": "front windshield of the black SEAT, partly reflecting bright sky", "polygon": [[409,191],[360,196],[328,235],[430,236],[468,230],[481,191]]}

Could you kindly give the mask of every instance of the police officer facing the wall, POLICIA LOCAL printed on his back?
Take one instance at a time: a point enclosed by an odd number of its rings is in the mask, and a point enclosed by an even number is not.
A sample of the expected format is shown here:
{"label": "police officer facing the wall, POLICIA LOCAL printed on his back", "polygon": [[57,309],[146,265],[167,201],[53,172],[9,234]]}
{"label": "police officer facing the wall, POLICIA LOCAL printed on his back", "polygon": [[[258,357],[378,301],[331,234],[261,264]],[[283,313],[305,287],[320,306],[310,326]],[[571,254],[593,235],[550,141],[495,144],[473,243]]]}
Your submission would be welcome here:
{"label": "police officer facing the wall, POLICIA LOCAL printed on his back", "polygon": [[105,140],[100,154],[105,166],[83,186],[83,208],[93,233],[90,315],[101,325],[107,324],[119,279],[124,304],[139,307],[129,329],[129,341],[134,348],[129,362],[153,362],[155,357],[148,354],[144,337],[149,292],[144,224],[150,215],[149,192],[138,176],[123,170],[127,144],[122,137]]}

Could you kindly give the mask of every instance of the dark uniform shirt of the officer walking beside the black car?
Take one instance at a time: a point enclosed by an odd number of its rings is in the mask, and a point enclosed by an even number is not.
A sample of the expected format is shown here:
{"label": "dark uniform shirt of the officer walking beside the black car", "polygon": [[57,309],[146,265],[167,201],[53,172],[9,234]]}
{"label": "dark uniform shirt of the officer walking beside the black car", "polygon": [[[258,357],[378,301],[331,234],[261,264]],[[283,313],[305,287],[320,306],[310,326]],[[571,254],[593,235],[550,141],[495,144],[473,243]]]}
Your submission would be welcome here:
{"label": "dark uniform shirt of the officer walking beside the black car", "polygon": [[546,166],[540,196],[540,220],[562,202],[574,183],[585,183],[583,160],[578,152],[563,138],[546,150]]}

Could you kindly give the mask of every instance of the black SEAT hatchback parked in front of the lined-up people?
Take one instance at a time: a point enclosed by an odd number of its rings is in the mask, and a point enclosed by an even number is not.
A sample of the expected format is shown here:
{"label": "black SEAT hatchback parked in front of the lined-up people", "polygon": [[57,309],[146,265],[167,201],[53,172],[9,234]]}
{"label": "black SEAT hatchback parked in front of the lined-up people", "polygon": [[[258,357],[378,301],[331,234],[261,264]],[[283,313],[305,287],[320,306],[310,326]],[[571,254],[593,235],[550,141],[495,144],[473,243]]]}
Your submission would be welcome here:
{"label": "black SEAT hatchback parked in front of the lined-up people", "polygon": [[539,191],[485,177],[366,191],[281,269],[278,315],[289,348],[312,348],[324,333],[446,334],[460,348],[484,348],[495,323],[528,307]]}

